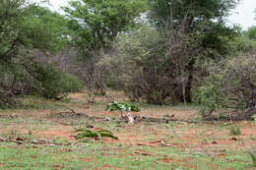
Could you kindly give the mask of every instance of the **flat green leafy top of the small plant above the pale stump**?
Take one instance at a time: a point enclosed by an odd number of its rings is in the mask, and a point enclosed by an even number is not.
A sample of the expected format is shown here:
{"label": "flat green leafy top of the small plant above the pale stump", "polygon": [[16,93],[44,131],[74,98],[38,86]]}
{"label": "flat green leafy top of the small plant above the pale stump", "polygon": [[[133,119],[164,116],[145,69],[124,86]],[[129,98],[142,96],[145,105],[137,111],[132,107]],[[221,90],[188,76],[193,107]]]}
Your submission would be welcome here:
{"label": "flat green leafy top of the small plant above the pale stump", "polygon": [[106,105],[105,111],[115,111],[119,110],[121,112],[140,112],[141,109],[135,105],[124,103],[124,102],[111,102]]}

